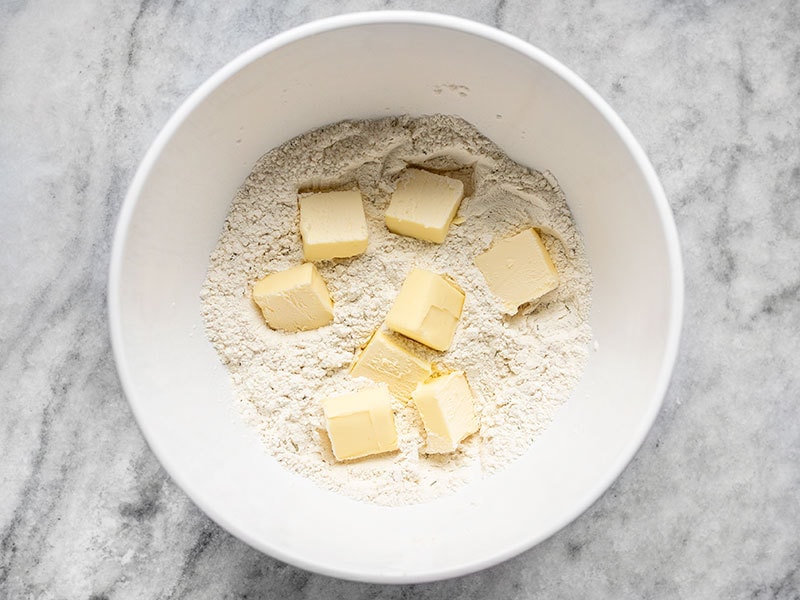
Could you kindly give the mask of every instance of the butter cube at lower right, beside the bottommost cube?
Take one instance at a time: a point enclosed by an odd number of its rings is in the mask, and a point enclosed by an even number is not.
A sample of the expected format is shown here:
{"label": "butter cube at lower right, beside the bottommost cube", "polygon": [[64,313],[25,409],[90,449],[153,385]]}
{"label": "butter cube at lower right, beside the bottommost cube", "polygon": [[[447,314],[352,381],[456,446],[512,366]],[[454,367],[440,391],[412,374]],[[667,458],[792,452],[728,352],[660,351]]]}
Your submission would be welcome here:
{"label": "butter cube at lower right, beside the bottommost cube", "polygon": [[412,397],[428,434],[428,453],[453,452],[464,438],[478,431],[472,392],[464,373],[448,373],[421,383]]}

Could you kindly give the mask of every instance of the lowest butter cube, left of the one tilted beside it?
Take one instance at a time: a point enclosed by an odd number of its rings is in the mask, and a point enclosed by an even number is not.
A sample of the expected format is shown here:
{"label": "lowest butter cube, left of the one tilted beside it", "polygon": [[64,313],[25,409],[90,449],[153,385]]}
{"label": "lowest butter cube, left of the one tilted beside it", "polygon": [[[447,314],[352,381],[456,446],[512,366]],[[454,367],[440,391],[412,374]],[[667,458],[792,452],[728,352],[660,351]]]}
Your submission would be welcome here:
{"label": "lowest butter cube, left of the one tilted beside it", "polygon": [[385,386],[326,398],[322,410],[336,460],[397,450],[392,396]]}

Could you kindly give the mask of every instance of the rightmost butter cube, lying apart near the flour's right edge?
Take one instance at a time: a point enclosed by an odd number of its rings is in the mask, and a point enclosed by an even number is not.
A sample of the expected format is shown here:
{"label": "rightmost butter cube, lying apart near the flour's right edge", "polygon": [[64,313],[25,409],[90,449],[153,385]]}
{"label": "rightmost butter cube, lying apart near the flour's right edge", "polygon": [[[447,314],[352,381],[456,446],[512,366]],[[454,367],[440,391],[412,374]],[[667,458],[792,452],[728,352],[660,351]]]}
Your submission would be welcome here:
{"label": "rightmost butter cube, lying apart near the flour's right edge", "polygon": [[533,229],[496,242],[475,265],[509,314],[558,287],[558,272]]}

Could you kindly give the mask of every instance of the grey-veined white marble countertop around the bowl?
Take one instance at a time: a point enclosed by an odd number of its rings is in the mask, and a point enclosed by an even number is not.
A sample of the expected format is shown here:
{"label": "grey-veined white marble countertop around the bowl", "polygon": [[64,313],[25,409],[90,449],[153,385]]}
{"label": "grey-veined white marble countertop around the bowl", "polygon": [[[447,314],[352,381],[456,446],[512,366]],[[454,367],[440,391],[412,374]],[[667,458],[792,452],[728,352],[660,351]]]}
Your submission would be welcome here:
{"label": "grey-veined white marble countertop around the bowl", "polygon": [[243,50],[430,0],[0,4],[0,597],[800,597],[800,5],[468,0],[560,59],[660,174],[686,267],[664,408],[539,546],[466,577],[314,575],[211,522],[145,444],[106,323],[113,227],[181,101]]}

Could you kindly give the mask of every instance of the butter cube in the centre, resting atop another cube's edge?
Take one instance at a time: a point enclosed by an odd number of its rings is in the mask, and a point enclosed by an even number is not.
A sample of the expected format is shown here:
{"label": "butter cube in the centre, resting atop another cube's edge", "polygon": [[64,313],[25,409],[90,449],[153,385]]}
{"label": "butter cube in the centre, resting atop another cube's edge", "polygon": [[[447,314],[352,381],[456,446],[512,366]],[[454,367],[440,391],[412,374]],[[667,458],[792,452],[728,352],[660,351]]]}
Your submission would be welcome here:
{"label": "butter cube in the centre, resting atop another cube's edge", "polygon": [[434,350],[447,350],[463,307],[464,292],[454,284],[436,273],[413,269],[386,316],[386,325]]}

